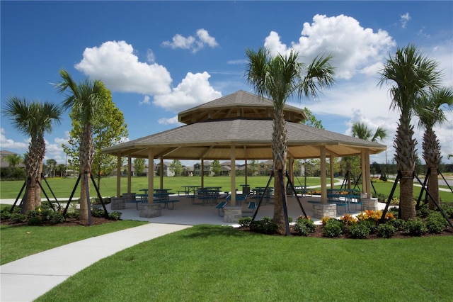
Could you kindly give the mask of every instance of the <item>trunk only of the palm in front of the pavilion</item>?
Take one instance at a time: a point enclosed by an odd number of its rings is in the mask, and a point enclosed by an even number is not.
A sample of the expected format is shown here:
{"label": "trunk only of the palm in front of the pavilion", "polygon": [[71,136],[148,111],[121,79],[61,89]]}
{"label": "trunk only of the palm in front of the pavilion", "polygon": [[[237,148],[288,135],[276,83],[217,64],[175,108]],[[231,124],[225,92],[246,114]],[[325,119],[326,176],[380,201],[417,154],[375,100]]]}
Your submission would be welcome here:
{"label": "trunk only of the palm in front of the pavilion", "polygon": [[286,198],[286,187],[280,185],[279,170],[282,171],[282,181],[285,184],[287,160],[287,130],[283,111],[276,111],[273,125],[273,162],[274,162],[274,217],[273,220],[280,226],[285,225],[283,199]]}

